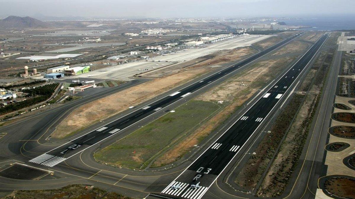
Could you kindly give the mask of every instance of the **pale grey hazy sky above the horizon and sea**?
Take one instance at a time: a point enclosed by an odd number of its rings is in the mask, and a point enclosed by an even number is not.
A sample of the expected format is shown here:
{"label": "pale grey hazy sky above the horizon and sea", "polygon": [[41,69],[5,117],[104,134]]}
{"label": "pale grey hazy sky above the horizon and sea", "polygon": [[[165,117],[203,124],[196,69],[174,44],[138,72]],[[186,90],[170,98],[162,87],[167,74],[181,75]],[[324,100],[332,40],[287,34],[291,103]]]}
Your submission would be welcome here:
{"label": "pale grey hazy sky above the horizon and sea", "polygon": [[354,0],[0,0],[0,14],[84,17],[354,15]]}

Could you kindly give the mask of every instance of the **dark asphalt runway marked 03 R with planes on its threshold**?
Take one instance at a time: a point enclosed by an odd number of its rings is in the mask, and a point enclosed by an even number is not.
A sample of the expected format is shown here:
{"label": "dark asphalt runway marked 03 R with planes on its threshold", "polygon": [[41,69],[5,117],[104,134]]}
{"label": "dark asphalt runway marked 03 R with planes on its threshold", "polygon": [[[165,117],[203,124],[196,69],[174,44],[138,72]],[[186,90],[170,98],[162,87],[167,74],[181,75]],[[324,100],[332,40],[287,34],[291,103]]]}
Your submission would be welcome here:
{"label": "dark asphalt runway marked 03 R with planes on its threshold", "polygon": [[[323,35],[266,94],[261,96],[217,141],[171,182],[161,192],[162,195],[167,198],[200,199],[277,106],[327,37],[327,34]],[[197,183],[199,187],[191,186]]]}

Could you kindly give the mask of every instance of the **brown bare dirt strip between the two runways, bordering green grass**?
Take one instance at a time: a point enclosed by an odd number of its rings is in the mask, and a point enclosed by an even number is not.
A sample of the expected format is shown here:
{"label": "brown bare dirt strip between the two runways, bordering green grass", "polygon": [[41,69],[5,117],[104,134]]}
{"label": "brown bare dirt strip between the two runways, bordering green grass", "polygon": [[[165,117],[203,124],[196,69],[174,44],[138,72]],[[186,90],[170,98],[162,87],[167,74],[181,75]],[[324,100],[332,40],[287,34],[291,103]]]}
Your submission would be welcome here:
{"label": "brown bare dirt strip between the two runways, bordering green grass", "polygon": [[244,72],[198,96],[196,100],[212,102],[222,100],[224,101],[223,103],[227,103],[228,105],[208,120],[207,123],[202,124],[185,140],[171,147],[171,149],[154,162],[154,165],[166,165],[180,159],[195,144],[199,144],[203,138],[208,136],[209,133],[225,121],[235,109],[252,97],[258,89],[261,89],[268,81],[285,69],[292,60],[290,58],[282,58],[258,62]]}

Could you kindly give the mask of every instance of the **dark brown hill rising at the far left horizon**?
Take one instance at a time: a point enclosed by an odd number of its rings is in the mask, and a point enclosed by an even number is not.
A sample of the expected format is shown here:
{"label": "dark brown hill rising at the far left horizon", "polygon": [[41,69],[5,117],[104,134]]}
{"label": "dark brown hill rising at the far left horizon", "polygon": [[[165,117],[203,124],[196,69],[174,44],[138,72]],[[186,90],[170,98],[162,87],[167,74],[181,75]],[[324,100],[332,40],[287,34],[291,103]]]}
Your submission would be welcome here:
{"label": "dark brown hill rising at the far left horizon", "polygon": [[50,23],[32,17],[9,16],[0,20],[0,28],[2,29],[47,28],[50,26]]}

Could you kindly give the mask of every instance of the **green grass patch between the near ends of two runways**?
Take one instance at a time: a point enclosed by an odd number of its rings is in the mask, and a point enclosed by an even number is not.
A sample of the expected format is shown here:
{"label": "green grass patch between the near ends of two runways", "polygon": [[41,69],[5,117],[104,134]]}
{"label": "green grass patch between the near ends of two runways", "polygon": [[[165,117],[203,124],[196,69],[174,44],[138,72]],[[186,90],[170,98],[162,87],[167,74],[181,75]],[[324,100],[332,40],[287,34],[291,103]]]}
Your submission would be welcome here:
{"label": "green grass patch between the near ends of two runways", "polygon": [[189,101],[95,153],[100,162],[131,169],[143,169],[183,133],[191,130],[219,109],[212,102]]}

